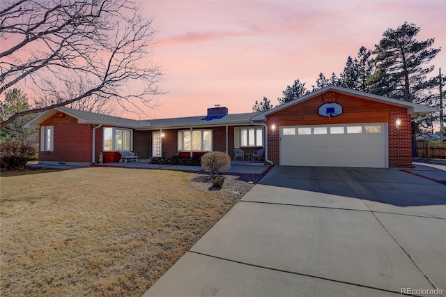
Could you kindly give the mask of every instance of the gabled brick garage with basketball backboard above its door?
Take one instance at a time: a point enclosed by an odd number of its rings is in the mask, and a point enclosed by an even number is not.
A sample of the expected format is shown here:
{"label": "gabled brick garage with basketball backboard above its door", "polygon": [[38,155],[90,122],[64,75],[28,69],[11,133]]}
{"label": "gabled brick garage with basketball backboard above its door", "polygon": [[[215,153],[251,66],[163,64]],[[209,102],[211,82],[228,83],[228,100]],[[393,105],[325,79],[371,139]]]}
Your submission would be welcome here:
{"label": "gabled brick garage with basketball backboard above its door", "polygon": [[325,86],[252,116],[283,166],[412,167],[412,125],[435,107]]}

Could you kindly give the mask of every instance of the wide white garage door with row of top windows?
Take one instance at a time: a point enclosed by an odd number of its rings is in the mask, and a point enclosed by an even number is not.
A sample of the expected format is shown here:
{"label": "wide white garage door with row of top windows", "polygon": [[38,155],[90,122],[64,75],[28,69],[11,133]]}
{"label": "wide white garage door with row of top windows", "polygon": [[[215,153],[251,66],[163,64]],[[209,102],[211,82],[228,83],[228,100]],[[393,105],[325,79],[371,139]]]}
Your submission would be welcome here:
{"label": "wide white garage door with row of top windows", "polygon": [[384,123],[280,128],[280,164],[386,167]]}

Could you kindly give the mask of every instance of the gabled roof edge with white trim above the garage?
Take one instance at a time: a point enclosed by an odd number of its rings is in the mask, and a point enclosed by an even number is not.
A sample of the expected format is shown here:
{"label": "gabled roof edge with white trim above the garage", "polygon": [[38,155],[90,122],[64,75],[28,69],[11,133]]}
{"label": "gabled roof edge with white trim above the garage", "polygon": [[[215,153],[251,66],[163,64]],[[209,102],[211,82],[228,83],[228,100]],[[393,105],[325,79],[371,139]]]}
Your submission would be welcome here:
{"label": "gabled roof edge with white trim above the garage", "polygon": [[288,107],[291,107],[293,105],[299,104],[301,102],[304,102],[306,100],[309,100],[311,98],[314,98],[316,96],[322,95],[325,92],[328,91],[336,91],[337,93],[342,93],[344,95],[348,96],[355,96],[357,98],[362,98],[366,100],[381,102],[385,104],[395,105],[399,107],[407,108],[408,114],[412,114],[412,116],[422,116],[424,114],[430,114],[431,112],[436,112],[438,109],[436,107],[429,107],[426,105],[420,105],[413,102],[403,101],[399,99],[394,98],[388,98],[384,96],[379,96],[371,93],[366,93],[362,91],[356,91],[352,89],[346,89],[341,86],[325,86],[322,89],[318,89],[317,91],[314,91],[312,93],[309,93],[305,96],[299,97],[298,99],[292,100],[290,102],[286,102],[284,105],[279,105],[273,109],[267,110],[266,112],[262,112],[261,114],[256,114],[252,117],[253,121],[264,121],[266,120],[266,116],[268,114],[273,114],[275,112],[279,112],[282,109],[286,109]]}

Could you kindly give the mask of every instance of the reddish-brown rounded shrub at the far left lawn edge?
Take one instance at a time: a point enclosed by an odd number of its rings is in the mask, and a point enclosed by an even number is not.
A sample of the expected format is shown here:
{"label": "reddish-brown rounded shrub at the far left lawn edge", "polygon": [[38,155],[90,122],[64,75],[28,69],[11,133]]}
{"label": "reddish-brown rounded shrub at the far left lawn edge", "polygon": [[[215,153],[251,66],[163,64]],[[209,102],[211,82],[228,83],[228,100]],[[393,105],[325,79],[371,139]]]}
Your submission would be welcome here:
{"label": "reddish-brown rounded shrub at the far left lawn edge", "polygon": [[37,153],[29,140],[10,140],[0,144],[0,162],[6,169],[24,169],[26,162]]}

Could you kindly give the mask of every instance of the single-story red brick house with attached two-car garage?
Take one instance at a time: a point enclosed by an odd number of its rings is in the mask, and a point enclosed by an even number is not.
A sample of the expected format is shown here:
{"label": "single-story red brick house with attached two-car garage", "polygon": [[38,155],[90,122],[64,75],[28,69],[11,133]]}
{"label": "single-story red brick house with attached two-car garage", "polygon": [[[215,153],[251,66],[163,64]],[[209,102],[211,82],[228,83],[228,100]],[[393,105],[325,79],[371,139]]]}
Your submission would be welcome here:
{"label": "single-story red brick house with attached two-car garage", "polygon": [[258,114],[208,108],[206,116],[132,120],[56,107],[26,128],[40,129],[40,163],[91,164],[103,152],[139,158],[265,149],[274,165],[411,167],[411,122],[436,108],[326,86]]}

